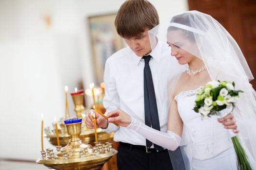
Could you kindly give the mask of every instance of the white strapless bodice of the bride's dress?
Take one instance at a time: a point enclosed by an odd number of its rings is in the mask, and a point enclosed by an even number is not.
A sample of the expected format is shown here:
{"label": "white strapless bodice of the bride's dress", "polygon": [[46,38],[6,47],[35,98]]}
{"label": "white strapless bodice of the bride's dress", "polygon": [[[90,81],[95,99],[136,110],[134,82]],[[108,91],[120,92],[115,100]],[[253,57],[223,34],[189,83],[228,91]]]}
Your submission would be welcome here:
{"label": "white strapless bodice of the bride's dress", "polygon": [[[179,115],[184,123],[183,136],[191,145],[193,157],[199,160],[210,159],[229,149],[232,141],[228,131],[217,121],[217,116],[201,119],[192,110],[195,106],[196,90],[188,90],[175,96]],[[184,134],[185,133],[185,134]]]}

